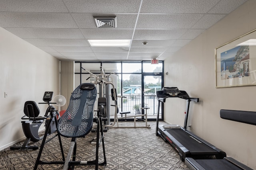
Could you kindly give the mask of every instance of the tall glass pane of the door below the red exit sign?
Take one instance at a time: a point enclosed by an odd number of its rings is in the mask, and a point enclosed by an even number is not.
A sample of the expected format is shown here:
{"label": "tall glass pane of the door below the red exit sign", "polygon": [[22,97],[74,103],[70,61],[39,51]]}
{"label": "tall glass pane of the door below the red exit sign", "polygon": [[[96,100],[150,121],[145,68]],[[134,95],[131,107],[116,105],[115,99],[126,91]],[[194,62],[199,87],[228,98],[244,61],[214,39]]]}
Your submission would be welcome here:
{"label": "tall glass pane of the door below the red exit sign", "polygon": [[[143,76],[144,86],[142,88],[142,107],[145,109],[143,113],[145,113],[147,108],[148,119],[155,120],[158,112],[158,100],[156,96],[156,92],[162,90],[162,76],[158,75],[145,75]],[[162,107],[160,107],[159,111],[159,119],[162,119]]]}

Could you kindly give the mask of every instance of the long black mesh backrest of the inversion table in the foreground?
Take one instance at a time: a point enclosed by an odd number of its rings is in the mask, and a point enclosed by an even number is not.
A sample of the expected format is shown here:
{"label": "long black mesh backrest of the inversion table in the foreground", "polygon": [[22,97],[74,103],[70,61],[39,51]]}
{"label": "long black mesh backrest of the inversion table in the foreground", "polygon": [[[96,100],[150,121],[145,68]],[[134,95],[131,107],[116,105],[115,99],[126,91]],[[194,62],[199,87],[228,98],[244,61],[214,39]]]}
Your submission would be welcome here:
{"label": "long black mesh backrest of the inversion table in the foreground", "polygon": [[97,96],[94,84],[80,84],[72,93],[68,109],[60,117],[57,130],[64,137],[84,137],[92,130]]}

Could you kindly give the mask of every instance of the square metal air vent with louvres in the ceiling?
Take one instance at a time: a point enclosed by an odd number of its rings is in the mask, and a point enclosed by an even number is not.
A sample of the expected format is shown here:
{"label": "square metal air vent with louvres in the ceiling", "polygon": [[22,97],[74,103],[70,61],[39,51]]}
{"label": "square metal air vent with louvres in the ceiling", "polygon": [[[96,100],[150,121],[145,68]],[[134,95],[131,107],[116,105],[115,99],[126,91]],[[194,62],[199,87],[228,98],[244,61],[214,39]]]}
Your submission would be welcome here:
{"label": "square metal air vent with louvres in the ceiling", "polygon": [[94,16],[98,28],[116,28],[116,16]]}

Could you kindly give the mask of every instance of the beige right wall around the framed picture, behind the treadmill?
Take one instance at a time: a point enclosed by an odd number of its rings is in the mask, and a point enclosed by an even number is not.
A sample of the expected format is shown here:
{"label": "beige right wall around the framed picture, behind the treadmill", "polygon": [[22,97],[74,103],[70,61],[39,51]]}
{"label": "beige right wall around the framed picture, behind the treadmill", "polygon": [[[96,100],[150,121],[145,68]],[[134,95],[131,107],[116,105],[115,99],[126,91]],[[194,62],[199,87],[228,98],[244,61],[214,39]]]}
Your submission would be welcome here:
{"label": "beige right wall around the framed picture, behind the treadmill", "polygon": [[[215,88],[214,49],[256,29],[256,1],[249,0],[202,33],[164,63],[164,86],[178,87],[200,98],[190,107],[191,131],[228,156],[256,169],[256,126],[224,120],[220,109],[256,111],[256,86]],[[256,37],[254,37],[256,38]],[[165,121],[184,124],[185,101],[166,100]]]}

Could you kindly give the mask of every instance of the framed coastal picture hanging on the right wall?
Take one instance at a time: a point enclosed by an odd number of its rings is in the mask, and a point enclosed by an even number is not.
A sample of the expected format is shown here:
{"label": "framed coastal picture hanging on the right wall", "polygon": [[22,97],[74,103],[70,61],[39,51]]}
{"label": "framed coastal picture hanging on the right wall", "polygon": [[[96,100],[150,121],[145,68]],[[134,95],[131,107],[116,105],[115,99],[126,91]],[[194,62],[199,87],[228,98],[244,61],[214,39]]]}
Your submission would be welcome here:
{"label": "framed coastal picture hanging on the right wall", "polygon": [[256,85],[256,29],[215,49],[216,88]]}

